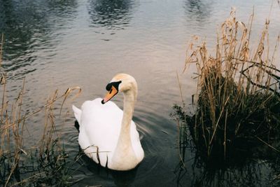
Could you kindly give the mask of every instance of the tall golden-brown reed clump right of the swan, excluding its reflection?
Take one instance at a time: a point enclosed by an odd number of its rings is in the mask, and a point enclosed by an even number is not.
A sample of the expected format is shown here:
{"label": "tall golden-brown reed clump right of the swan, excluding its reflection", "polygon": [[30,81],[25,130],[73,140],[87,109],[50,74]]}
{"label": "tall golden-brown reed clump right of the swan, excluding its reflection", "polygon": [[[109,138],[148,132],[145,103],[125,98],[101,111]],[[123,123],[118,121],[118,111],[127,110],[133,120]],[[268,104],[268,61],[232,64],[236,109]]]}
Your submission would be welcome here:
{"label": "tall golden-brown reed clump right of the swan, excluding its reflection", "polygon": [[245,25],[232,10],[218,31],[214,55],[205,42],[197,47],[190,43],[184,71],[190,64],[197,66],[196,109],[193,115],[181,106],[174,109],[183,114],[195,147],[207,159],[229,160],[239,154],[236,148],[248,150],[255,144],[278,151],[272,139],[280,133],[280,71],[274,66],[279,63],[279,36],[272,50],[267,20],[253,50],[252,23],[253,14]]}

